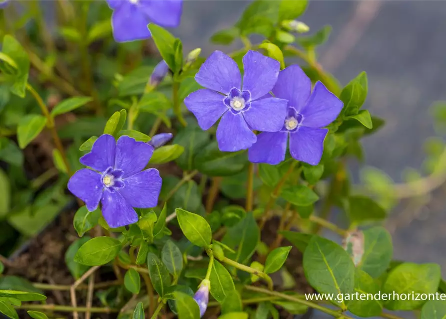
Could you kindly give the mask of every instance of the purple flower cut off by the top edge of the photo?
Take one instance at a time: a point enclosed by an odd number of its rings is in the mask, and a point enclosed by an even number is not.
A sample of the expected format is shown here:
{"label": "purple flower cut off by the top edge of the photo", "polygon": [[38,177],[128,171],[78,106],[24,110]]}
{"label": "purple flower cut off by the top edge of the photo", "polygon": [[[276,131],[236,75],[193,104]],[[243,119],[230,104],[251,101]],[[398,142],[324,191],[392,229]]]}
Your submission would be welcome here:
{"label": "purple flower cut off by the top edge of the photo", "polygon": [[113,10],[111,26],[117,42],[149,38],[149,22],[164,27],[177,27],[180,24],[183,0],[106,1]]}

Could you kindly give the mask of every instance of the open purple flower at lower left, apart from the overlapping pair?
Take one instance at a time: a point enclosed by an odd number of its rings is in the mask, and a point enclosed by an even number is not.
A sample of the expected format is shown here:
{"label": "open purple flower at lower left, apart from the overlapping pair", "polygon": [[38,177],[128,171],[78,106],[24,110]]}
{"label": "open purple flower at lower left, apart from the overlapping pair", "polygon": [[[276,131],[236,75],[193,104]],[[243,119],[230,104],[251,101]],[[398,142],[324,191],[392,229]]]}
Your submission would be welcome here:
{"label": "open purple flower at lower left, apart from the overlapping pair", "polygon": [[162,183],[159,172],[155,168],[142,170],[152,154],[152,146],[128,136],[116,142],[111,135],[101,135],[91,152],[79,160],[92,169],[76,171],[68,189],[85,202],[89,211],[95,210],[100,201],[110,227],[133,224],[138,221],[133,207],[149,208],[158,203]]}

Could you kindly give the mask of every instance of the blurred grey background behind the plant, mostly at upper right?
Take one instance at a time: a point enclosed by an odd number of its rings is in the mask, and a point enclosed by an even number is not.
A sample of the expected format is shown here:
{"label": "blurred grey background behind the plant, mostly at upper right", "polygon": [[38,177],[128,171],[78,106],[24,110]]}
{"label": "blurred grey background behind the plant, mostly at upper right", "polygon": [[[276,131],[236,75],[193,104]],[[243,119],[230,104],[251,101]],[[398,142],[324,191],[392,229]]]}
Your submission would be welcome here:
{"label": "blurred grey background behind the plant, mostly at upper right", "polygon": [[[310,33],[326,24],[333,26],[329,41],[319,50],[321,64],[343,85],[366,71],[365,108],[387,121],[384,129],[364,140],[364,164],[401,181],[406,167],[422,166],[423,143],[436,135],[429,107],[446,100],[445,0],[309,2],[300,20],[310,26]],[[231,48],[212,45],[208,39],[233,25],[249,3],[185,0],[182,25],[175,33],[186,50],[202,47],[205,54],[215,49],[229,52]],[[355,170],[358,166],[354,165]],[[392,212],[387,226],[394,239],[395,259],[439,263],[446,274],[445,194],[445,189],[439,190],[427,205],[402,205]],[[325,317],[317,314],[316,318]]]}

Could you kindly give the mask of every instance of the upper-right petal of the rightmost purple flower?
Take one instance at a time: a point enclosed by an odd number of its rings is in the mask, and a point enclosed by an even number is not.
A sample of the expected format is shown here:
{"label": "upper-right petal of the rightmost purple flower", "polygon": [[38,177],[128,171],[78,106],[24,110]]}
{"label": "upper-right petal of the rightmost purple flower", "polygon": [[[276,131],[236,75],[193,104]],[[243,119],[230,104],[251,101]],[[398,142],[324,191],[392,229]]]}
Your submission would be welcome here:
{"label": "upper-right petal of the rightmost purple flower", "polygon": [[310,128],[327,126],[336,120],[343,106],[344,103],[318,81],[310,99],[300,112],[304,117],[302,125]]}

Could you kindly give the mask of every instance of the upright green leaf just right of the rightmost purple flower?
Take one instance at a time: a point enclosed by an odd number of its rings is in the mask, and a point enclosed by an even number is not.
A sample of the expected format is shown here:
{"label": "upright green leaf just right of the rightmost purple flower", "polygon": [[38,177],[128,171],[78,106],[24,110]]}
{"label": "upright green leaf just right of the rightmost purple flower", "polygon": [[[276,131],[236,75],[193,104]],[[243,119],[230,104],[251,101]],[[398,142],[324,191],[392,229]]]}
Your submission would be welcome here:
{"label": "upright green leaf just right of the rightmost purple flower", "polygon": [[346,116],[356,115],[367,98],[367,73],[361,72],[342,89],[340,99],[344,102],[342,113]]}

